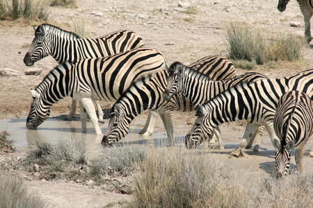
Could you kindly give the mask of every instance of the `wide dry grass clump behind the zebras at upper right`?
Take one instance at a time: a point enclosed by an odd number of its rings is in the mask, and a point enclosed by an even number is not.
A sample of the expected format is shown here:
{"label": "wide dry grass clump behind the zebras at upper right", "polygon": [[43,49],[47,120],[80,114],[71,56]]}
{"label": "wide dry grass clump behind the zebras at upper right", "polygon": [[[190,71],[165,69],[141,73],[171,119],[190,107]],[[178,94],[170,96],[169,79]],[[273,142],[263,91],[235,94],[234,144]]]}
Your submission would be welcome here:
{"label": "wide dry grass clump behind the zebras at upper right", "polygon": [[254,28],[232,23],[227,28],[227,44],[230,58],[255,61],[264,64],[270,61],[300,60],[303,41],[294,35],[280,35],[267,39]]}

